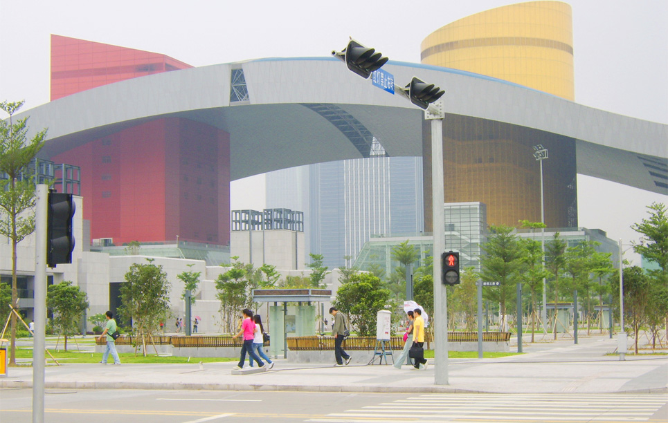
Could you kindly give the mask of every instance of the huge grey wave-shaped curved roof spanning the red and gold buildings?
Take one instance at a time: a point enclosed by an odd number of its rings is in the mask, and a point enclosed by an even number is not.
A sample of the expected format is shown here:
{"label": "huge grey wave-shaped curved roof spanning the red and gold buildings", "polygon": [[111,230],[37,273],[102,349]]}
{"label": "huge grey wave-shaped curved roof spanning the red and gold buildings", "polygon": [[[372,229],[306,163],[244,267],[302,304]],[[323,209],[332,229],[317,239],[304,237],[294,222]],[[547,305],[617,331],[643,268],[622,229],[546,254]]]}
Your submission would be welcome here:
{"label": "huge grey wave-shaped curved roof spanning the red and gold buildings", "polygon": [[[444,88],[444,111],[576,140],[577,173],[668,193],[668,125],[582,106],[491,77],[388,62],[395,82]],[[231,134],[231,178],[369,155],[422,156],[422,111],[357,77],[334,58],[271,58],[189,68],[100,86],[30,109],[48,127],[42,154],[163,117]]]}

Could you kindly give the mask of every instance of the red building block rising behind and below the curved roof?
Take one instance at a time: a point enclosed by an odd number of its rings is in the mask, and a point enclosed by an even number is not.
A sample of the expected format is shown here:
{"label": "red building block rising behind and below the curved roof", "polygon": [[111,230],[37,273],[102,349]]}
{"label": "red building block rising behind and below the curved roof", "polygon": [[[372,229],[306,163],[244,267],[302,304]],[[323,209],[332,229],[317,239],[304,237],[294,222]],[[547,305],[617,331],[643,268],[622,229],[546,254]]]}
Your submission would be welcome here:
{"label": "red building block rising behind and below the curved roof", "polygon": [[[58,36],[51,40],[60,43],[52,46],[52,66],[53,50],[63,48],[65,54],[56,57],[67,64],[66,73],[52,67],[52,100],[148,75],[138,71],[144,68],[159,73],[174,66],[170,63],[190,67],[156,53],[107,44],[96,48],[96,43]],[[91,55],[98,57],[96,51],[102,50],[109,53],[107,67],[96,62],[91,68]],[[84,59],[78,61],[79,55]],[[118,64],[119,55],[134,57],[127,59],[132,64],[123,60]],[[163,70],[156,70],[161,66]],[[104,69],[109,75],[102,73]],[[161,118],[91,140],[51,160],[81,168],[84,218],[91,222],[93,239],[112,238],[116,245],[176,241],[177,237],[180,241],[229,243],[230,136],[225,131],[183,118]]]}

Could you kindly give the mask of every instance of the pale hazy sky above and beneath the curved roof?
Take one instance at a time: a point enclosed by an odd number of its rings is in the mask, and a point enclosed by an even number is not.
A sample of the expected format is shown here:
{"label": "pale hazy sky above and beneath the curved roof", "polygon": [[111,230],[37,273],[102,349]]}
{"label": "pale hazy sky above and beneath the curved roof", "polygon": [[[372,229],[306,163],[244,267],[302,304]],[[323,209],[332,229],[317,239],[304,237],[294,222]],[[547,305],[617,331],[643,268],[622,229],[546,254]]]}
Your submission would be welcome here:
{"label": "pale hazy sky above and beneath the curved roof", "polygon": [[[348,37],[392,60],[419,62],[428,34],[503,0],[268,1],[0,0],[0,101],[49,100],[50,35],[162,53],[192,66],[261,57],[318,57]],[[571,0],[575,101],[668,124],[668,1]],[[668,142],[668,140],[667,140]],[[264,179],[235,181],[232,208],[262,209]],[[652,202],[668,196],[578,176],[581,227],[624,244]],[[256,193],[249,196],[249,192]],[[632,252],[625,257],[640,265]]]}

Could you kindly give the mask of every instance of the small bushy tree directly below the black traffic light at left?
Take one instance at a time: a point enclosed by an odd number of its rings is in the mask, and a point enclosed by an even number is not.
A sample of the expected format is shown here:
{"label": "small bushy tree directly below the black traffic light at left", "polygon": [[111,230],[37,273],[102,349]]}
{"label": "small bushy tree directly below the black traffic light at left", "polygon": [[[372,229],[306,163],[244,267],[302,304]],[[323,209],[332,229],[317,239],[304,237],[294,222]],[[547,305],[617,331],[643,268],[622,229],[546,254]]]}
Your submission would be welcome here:
{"label": "small bushy tree directly below the black traffic light at left", "polygon": [[78,332],[79,323],[88,308],[86,293],[70,281],[51,285],[46,291],[46,306],[53,312],[53,325],[58,328],[65,339]]}

